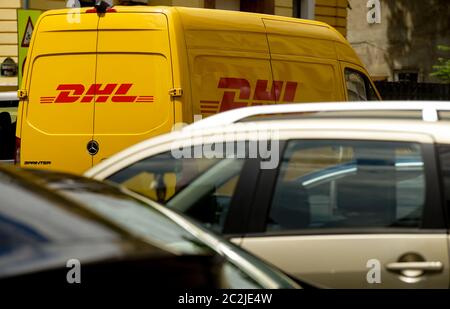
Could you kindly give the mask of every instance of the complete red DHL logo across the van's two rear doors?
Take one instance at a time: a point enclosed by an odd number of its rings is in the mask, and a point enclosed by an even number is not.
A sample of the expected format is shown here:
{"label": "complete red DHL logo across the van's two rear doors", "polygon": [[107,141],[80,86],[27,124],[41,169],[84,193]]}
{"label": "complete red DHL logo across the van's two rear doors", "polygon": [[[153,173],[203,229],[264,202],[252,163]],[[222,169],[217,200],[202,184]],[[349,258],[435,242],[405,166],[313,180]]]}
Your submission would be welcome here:
{"label": "complete red DHL logo across the van's two rear doors", "polygon": [[82,84],[61,84],[56,90],[59,94],[56,97],[41,97],[41,103],[104,103],[109,99],[116,103],[151,103],[154,100],[153,96],[132,96],[127,95],[133,84],[92,84],[89,89],[85,91]]}

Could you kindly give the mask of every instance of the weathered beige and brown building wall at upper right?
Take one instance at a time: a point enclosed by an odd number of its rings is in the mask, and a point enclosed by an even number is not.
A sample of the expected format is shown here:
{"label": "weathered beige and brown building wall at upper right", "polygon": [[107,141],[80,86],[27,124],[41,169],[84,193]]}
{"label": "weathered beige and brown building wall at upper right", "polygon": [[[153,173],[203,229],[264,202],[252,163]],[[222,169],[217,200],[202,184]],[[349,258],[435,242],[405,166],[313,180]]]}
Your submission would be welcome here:
{"label": "weathered beige and brown building wall at upper right", "polygon": [[349,0],[347,39],[374,79],[396,80],[398,72],[417,72],[419,82],[430,77],[440,53],[450,45],[448,0],[433,5],[420,0],[381,0],[381,23],[368,24],[367,1]]}

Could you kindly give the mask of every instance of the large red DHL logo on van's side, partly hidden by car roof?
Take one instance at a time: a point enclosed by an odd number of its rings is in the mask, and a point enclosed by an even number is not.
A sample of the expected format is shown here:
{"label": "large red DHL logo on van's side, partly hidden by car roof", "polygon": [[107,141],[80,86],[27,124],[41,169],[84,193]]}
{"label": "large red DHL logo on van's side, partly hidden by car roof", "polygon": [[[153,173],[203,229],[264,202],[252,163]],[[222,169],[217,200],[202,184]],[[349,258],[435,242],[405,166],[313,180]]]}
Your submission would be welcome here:
{"label": "large red DHL logo on van's side, partly hidden by car roof", "polygon": [[[273,81],[270,90],[267,88],[268,83],[268,80],[258,79],[252,96],[250,82],[247,79],[222,77],[217,88],[231,89],[232,91],[224,91],[221,101],[201,100],[200,112],[202,114],[215,114],[238,107],[294,101],[297,82]],[[284,94],[281,98],[283,88]],[[239,94],[237,100],[236,94]]]}

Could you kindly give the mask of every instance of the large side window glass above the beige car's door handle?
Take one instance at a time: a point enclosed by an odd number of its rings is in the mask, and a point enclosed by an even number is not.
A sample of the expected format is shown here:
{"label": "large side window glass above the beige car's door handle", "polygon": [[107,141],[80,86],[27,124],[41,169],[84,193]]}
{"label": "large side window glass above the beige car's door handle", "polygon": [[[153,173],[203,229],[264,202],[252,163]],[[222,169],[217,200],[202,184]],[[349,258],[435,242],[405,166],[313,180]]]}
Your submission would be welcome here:
{"label": "large side window glass above the beige car's door handle", "polygon": [[421,147],[378,141],[290,141],[266,231],[419,228]]}

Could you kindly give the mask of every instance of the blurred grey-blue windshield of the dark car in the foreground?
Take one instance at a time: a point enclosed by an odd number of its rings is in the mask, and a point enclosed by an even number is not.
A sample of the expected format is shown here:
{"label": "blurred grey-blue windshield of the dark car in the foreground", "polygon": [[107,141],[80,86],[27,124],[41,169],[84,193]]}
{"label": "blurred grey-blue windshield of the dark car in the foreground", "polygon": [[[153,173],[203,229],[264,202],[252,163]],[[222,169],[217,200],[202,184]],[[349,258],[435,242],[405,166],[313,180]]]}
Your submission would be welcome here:
{"label": "blurred grey-blue windshield of the dark car in the foreground", "polygon": [[0,277],[60,267],[73,257],[96,261],[127,251],[119,245],[124,231],[2,170],[0,196]]}

